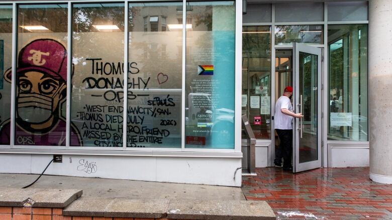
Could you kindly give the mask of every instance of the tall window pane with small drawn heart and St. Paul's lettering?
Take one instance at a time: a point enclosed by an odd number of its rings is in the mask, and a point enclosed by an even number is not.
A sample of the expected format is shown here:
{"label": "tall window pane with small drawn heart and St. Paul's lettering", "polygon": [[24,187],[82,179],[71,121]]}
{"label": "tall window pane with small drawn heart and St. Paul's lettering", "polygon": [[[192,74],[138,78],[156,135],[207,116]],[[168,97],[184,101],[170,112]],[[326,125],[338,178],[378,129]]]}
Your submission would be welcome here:
{"label": "tall window pane with small drawn heart and St. Paul's lettering", "polygon": [[127,147],[181,148],[182,3],[129,4]]}

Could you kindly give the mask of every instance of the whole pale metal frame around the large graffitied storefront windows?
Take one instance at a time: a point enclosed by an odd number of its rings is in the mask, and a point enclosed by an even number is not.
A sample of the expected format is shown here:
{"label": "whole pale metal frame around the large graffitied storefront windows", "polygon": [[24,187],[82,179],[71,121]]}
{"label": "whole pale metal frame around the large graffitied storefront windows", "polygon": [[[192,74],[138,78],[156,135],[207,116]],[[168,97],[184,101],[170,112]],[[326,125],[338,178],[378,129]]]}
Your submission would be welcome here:
{"label": "whole pale metal frame around the large graffitied storefront windows", "polygon": [[[169,2],[169,1],[161,1],[159,2]],[[125,30],[124,30],[124,63],[128,62],[128,13],[129,13],[129,3],[133,3],[135,1],[114,1],[114,0],[107,0],[107,1],[100,1],[100,0],[69,0],[69,1],[8,1],[2,2],[0,5],[12,5],[13,7],[13,33],[12,33],[12,69],[15,70],[17,66],[17,9],[19,5],[38,5],[38,4],[67,4],[68,14],[67,14],[67,22],[68,22],[68,39],[72,39],[72,7],[73,4],[81,4],[81,3],[124,3],[124,11],[125,11]],[[145,2],[156,2],[156,1],[145,1]],[[186,1],[178,1],[182,2],[182,21],[186,21]],[[235,38],[241,37],[241,30],[242,30],[242,2],[235,1]],[[148,19],[147,19],[148,22]],[[159,22],[158,22],[158,30],[159,30]],[[181,93],[181,148],[132,148],[126,147],[126,140],[123,140],[123,147],[83,147],[83,146],[70,146],[70,103],[71,103],[71,89],[67,89],[67,98],[66,98],[66,145],[65,146],[24,146],[24,145],[15,145],[15,74],[12,75],[12,94],[11,94],[11,136],[10,136],[10,145],[0,145],[0,153],[8,152],[8,153],[62,153],[62,154],[91,154],[91,155],[134,155],[134,156],[180,156],[180,157],[235,157],[240,158],[242,157],[241,152],[241,109],[238,109],[241,102],[241,88],[235,88],[235,123],[234,123],[234,130],[235,130],[235,140],[233,149],[194,149],[194,148],[184,148],[185,143],[185,136],[184,136],[184,129],[185,129],[185,40],[186,40],[186,29],[185,25],[182,22],[183,29],[182,29],[182,93]],[[148,26],[148,24],[147,24]],[[148,27],[147,27],[148,28]],[[67,41],[67,88],[71,88],[71,58],[72,58],[72,41]],[[124,72],[128,72],[129,67],[124,67]],[[235,43],[235,80],[236,84],[241,83],[241,42]],[[124,84],[127,85],[127,77],[124,78]],[[126,87],[124,87],[126,90]],[[126,109],[128,102],[127,100],[127,93],[124,92],[124,107]],[[127,115],[127,111],[124,111],[124,118]],[[124,122],[126,123],[126,121]],[[125,127],[125,126],[124,126]],[[123,136],[126,136],[127,129],[123,129]]]}

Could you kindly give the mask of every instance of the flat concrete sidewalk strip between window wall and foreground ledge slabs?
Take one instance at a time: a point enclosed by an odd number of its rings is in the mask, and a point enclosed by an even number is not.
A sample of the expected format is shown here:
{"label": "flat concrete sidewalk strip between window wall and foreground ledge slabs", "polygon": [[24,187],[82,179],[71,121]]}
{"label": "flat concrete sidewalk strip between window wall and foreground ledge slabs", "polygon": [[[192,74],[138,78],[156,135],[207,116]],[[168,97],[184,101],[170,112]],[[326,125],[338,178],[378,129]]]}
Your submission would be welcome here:
{"label": "flat concrete sidewalk strip between window wall and foreground ledge slabs", "polygon": [[[36,174],[0,173],[0,188],[22,188]],[[43,175],[29,188],[82,189],[82,197],[246,200],[240,187]]]}

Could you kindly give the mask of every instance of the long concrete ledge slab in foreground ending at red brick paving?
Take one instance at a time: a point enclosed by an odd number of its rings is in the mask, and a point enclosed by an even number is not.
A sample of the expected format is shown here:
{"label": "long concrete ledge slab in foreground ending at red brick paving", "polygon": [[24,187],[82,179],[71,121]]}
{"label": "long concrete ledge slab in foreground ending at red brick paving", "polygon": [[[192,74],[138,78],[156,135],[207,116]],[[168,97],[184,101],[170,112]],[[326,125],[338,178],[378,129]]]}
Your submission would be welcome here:
{"label": "long concrete ledge slab in foreground ending at red brick paving", "polygon": [[80,198],[63,209],[67,216],[168,219],[275,219],[265,201]]}

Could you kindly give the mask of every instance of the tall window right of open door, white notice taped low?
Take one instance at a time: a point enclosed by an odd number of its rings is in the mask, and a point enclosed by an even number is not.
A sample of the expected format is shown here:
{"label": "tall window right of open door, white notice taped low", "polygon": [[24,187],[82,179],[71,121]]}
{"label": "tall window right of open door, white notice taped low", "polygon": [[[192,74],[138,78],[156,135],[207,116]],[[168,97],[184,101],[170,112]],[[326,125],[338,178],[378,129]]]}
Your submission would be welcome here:
{"label": "tall window right of open door, white notice taped low", "polygon": [[329,25],[330,140],[368,140],[367,25]]}

